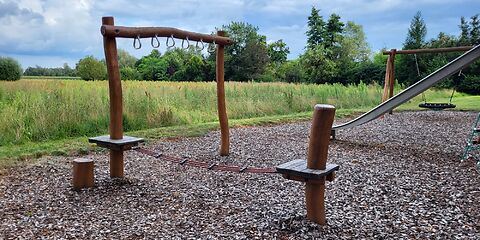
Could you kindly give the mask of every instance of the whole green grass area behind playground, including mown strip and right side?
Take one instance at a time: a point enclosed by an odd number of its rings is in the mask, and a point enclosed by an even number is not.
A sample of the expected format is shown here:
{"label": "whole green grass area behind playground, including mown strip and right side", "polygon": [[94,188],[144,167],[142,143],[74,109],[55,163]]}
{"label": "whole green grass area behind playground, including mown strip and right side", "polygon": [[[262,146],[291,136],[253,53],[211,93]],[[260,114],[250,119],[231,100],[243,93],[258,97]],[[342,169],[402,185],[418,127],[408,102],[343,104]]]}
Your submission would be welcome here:
{"label": "whole green grass area behind playground, including mown strip and right side", "polygon": [[[396,89],[399,91],[400,89]],[[232,126],[308,119],[316,103],[333,104],[337,118],[378,105],[378,85],[226,84]],[[159,138],[198,135],[216,129],[214,82],[123,82],[124,128],[132,135]],[[426,93],[448,102],[447,90]],[[457,110],[479,110],[480,96],[457,93]],[[415,110],[418,96],[400,110]],[[0,82],[0,165],[5,159],[86,152],[86,137],[108,133],[108,82],[24,79]]]}

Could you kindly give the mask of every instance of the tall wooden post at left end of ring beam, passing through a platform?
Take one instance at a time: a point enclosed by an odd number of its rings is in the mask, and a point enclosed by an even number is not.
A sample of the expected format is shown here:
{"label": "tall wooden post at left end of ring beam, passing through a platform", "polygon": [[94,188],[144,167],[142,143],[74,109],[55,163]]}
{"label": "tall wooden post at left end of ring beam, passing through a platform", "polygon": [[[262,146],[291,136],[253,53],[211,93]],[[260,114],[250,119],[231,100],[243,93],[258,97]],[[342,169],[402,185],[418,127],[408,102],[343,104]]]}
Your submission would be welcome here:
{"label": "tall wooden post at left end of ring beam, passing through a platform", "polygon": [[[103,25],[114,25],[113,17],[103,17]],[[122,82],[118,68],[117,41],[115,37],[103,37],[105,62],[107,63],[110,93],[110,138],[123,138]],[[123,177],[123,151],[110,150],[110,177]]]}

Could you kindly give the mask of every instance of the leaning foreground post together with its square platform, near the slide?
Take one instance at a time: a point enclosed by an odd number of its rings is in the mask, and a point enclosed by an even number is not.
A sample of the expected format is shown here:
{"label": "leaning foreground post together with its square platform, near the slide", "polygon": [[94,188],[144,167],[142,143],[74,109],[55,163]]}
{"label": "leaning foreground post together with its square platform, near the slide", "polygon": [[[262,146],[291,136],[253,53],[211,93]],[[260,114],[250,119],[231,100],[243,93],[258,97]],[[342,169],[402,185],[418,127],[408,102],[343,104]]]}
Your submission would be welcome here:
{"label": "leaning foreground post together with its square platform, near the slide", "polygon": [[307,218],[321,225],[325,218],[325,180],[333,181],[336,164],[327,165],[328,145],[335,117],[335,107],[317,104],[313,112],[307,161],[296,159],[277,166],[277,172],[290,180],[306,183]]}

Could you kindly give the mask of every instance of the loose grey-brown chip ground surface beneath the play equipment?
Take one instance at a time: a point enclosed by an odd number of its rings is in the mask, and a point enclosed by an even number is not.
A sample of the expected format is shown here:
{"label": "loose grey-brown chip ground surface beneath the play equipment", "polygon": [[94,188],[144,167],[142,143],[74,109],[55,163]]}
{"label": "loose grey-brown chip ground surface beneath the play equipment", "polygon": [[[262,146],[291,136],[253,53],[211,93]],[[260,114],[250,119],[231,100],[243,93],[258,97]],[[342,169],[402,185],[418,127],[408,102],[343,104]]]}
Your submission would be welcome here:
{"label": "loose grey-brown chip ground surface beneath the play equipment", "polygon": [[[276,174],[178,166],[131,151],[111,180],[106,152],[96,187],[71,189],[74,157],[47,157],[0,178],[0,239],[480,239],[480,178],[460,162],[475,119],[468,112],[402,112],[337,133],[329,162],[327,225],[305,219],[304,184]],[[145,147],[235,165],[305,158],[308,122],[231,130]]]}

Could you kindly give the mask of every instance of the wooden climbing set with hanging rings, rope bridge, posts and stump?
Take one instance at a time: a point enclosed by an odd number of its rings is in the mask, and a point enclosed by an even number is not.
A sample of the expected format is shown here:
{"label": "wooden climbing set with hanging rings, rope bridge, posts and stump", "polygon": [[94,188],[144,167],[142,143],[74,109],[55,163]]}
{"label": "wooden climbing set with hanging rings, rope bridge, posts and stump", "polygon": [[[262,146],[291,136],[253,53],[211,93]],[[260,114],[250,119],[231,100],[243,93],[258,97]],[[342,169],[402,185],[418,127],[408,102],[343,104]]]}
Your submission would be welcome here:
{"label": "wooden climbing set with hanging rings, rope bridge, posts and stump", "polygon": [[[108,86],[110,99],[110,135],[93,137],[89,142],[110,151],[110,177],[124,177],[124,151],[137,148],[137,145],[144,141],[142,138],[123,135],[123,98],[120,79],[117,43],[116,38],[133,38],[133,46],[141,47],[142,38],[151,38],[152,47],[160,45],[158,37],[167,37],[167,46],[173,47],[174,38],[182,40],[182,47],[186,41],[197,41],[210,43],[216,46],[216,81],[217,81],[217,105],[220,123],[221,141],[219,153],[227,156],[230,152],[228,117],[225,104],[224,87],[224,48],[232,44],[232,40],[225,37],[223,31],[216,35],[208,35],[179,30],[166,27],[123,27],[115,26],[113,17],[103,17],[101,33],[105,50],[105,60],[108,69]],[[173,43],[169,45],[169,40]],[[339,169],[336,164],[327,165],[328,146],[330,141],[330,130],[335,117],[335,107],[331,105],[318,104],[314,107],[310,140],[308,145],[307,160],[297,159],[277,166],[276,168],[261,169],[240,166],[228,166],[198,162],[191,159],[178,159],[171,156],[163,156],[161,153],[142,150],[139,152],[151,155],[155,158],[162,158],[180,165],[194,166],[216,171],[229,172],[250,172],[250,173],[279,173],[284,178],[305,182],[305,199],[307,218],[318,223],[325,224],[325,181],[333,181],[335,171]],[[93,161],[78,160],[74,162],[73,187],[81,189],[93,186]]]}

